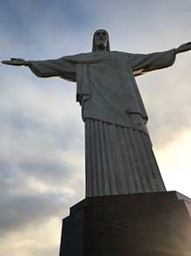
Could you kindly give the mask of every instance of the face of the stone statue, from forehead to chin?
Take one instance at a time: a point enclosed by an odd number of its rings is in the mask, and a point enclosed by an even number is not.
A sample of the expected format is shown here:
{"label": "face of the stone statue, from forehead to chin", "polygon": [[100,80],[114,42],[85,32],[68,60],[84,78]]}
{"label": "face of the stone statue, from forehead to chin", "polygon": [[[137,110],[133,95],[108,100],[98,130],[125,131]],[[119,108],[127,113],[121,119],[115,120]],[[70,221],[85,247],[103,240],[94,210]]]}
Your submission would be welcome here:
{"label": "face of the stone statue, from forehead to chin", "polygon": [[108,32],[106,30],[97,30],[94,36],[95,49],[100,51],[107,50],[109,42]]}

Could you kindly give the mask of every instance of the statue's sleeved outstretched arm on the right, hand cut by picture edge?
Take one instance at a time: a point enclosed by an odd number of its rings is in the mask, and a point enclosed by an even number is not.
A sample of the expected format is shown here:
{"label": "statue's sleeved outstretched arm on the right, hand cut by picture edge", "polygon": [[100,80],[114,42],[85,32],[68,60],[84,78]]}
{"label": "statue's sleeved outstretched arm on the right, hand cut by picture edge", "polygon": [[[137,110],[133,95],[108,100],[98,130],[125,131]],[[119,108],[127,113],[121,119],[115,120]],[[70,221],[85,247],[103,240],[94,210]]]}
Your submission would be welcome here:
{"label": "statue's sleeved outstretched arm on the right, hand cut by picture edge", "polygon": [[155,71],[171,66],[175,63],[176,54],[189,50],[191,50],[191,43],[182,44],[177,49],[169,51],[149,54],[128,53],[128,59],[135,76],[139,76],[148,71]]}

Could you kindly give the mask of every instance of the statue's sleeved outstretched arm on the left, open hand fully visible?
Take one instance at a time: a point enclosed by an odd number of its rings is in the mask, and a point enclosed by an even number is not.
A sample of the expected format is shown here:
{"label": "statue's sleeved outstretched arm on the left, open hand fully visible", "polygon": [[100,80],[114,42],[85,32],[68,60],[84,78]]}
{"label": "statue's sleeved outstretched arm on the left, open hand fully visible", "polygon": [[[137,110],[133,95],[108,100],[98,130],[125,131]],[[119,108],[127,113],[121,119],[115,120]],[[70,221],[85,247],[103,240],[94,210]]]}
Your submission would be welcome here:
{"label": "statue's sleeved outstretched arm on the left, open hand fully visible", "polygon": [[23,58],[10,58],[3,64],[28,66],[37,77],[63,77],[69,81],[76,81],[75,64],[71,64],[64,57],[42,61],[26,61]]}

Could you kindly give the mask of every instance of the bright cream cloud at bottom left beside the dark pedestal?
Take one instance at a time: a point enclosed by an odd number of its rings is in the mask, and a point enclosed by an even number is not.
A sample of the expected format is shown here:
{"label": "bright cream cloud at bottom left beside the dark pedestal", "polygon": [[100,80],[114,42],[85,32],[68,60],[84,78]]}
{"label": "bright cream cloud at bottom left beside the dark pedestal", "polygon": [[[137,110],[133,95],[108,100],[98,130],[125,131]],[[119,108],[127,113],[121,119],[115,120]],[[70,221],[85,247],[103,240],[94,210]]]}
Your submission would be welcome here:
{"label": "bright cream cloud at bottom left beside the dark pedestal", "polygon": [[45,223],[27,226],[21,231],[9,233],[0,239],[1,253],[12,253],[19,256],[57,255],[61,234],[61,220],[50,218]]}

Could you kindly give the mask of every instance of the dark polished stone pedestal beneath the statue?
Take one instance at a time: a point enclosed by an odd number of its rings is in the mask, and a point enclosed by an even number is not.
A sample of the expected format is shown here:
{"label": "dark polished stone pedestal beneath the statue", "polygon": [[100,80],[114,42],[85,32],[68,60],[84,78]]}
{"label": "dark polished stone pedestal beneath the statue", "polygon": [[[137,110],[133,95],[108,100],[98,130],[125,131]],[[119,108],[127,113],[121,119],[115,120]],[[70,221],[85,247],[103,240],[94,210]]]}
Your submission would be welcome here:
{"label": "dark polished stone pedestal beneath the statue", "polygon": [[60,256],[191,256],[191,199],[179,192],[87,198],[63,219]]}

